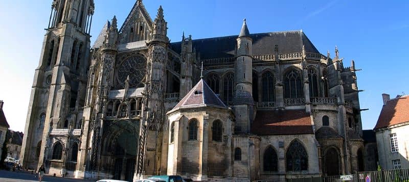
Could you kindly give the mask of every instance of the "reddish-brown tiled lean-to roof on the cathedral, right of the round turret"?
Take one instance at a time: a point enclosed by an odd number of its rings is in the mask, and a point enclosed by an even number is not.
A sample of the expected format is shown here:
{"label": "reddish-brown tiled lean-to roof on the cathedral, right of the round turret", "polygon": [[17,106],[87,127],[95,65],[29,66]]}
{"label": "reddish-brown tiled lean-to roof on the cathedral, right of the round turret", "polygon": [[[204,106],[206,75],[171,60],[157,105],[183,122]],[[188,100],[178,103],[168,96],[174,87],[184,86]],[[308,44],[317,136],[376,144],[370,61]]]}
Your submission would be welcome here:
{"label": "reddish-brown tiled lean-to roof on the cathedral, right of the round turret", "polygon": [[313,134],[311,117],[304,110],[257,111],[252,133],[256,135]]}

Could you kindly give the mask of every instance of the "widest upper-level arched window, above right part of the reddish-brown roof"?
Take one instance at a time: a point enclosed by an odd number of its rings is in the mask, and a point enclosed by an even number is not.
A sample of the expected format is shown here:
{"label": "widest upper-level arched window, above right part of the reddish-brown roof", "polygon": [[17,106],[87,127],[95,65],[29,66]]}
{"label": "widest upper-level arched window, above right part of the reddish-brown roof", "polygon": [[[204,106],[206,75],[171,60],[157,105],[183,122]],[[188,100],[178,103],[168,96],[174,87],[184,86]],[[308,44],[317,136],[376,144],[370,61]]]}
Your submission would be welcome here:
{"label": "widest upper-level arched window, above right part of the reddish-brown roof", "polygon": [[302,98],[303,86],[302,86],[301,73],[296,69],[290,69],[284,75],[284,96],[285,98]]}

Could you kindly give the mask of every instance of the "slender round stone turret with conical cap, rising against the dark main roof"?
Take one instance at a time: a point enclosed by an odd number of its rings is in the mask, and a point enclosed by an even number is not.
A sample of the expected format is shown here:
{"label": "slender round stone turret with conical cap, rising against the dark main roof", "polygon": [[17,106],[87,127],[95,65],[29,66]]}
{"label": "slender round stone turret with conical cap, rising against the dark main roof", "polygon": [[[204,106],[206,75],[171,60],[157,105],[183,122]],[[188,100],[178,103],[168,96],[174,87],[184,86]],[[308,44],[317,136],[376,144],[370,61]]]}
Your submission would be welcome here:
{"label": "slender round stone turret with conical cap, rising against the dark main roof", "polygon": [[235,95],[233,99],[236,113],[235,131],[248,133],[253,121],[254,101],[252,96],[253,40],[244,19],[237,38],[235,66]]}

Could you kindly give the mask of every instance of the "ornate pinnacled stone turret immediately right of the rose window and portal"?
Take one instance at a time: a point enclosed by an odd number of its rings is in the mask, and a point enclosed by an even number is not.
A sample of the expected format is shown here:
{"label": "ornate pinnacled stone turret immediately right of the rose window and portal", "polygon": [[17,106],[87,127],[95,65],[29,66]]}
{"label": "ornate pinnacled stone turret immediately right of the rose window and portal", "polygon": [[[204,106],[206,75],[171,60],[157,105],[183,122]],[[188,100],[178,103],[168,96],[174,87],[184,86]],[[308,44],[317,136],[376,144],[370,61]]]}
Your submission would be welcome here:
{"label": "ornate pinnacled stone turret immediately right of the rose window and portal", "polygon": [[[159,174],[161,168],[161,148],[163,137],[164,83],[167,66],[167,22],[164,19],[162,6],[157,10],[153,22],[153,34],[148,46],[148,66],[144,90],[144,121],[141,125],[141,143],[138,153],[137,172],[141,174]],[[149,161],[149,162],[147,162]],[[154,165],[148,165],[154,163]]]}

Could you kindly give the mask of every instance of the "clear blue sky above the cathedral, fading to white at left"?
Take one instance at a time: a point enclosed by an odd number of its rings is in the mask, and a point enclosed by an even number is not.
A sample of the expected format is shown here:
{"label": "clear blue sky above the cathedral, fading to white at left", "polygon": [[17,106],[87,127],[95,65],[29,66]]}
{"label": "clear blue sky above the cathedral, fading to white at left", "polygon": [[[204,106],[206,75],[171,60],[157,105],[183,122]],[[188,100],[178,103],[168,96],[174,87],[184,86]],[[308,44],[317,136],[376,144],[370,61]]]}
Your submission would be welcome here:
{"label": "clear blue sky above the cathedral, fading to white at left", "polygon": [[[24,131],[34,69],[38,66],[51,0],[0,3],[0,99],[11,129]],[[107,19],[121,25],[135,0],[96,0],[92,41]],[[243,18],[251,33],[302,29],[324,55],[339,47],[344,65],[355,60],[363,128],[371,129],[382,93],[409,94],[409,1],[144,0],[152,18],[162,5],[168,37],[237,35]],[[93,42],[92,42],[93,43]]]}

